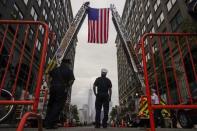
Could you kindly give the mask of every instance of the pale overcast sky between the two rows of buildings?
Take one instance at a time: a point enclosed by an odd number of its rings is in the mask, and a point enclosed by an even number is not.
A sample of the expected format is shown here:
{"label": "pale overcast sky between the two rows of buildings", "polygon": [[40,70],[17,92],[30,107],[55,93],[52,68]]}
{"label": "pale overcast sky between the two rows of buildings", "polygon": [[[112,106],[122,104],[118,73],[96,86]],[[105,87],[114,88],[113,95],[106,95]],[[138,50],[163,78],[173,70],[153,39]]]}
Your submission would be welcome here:
{"label": "pale overcast sky between the two rows of buildings", "polygon": [[[87,0],[70,0],[74,16]],[[122,15],[125,0],[89,0],[90,7],[109,8],[114,4]],[[116,30],[111,20],[109,23],[109,40],[107,44],[90,44],[88,39],[87,17],[77,35],[78,43],[75,56],[75,82],[72,88],[71,103],[78,105],[88,103],[88,90],[92,88],[94,80],[101,75],[101,68],[108,69],[107,77],[112,81],[112,103],[118,104],[118,76],[117,76],[117,56],[116,56]]]}

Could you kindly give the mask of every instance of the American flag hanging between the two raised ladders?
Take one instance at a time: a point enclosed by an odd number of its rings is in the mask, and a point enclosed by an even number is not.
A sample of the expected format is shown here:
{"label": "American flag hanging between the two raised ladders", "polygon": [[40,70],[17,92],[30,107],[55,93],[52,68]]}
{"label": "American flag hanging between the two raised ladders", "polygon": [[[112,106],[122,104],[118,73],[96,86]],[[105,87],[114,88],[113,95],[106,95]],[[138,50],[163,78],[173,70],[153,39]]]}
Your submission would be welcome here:
{"label": "American flag hanging between the two raised ladders", "polygon": [[88,43],[107,43],[109,8],[88,9]]}

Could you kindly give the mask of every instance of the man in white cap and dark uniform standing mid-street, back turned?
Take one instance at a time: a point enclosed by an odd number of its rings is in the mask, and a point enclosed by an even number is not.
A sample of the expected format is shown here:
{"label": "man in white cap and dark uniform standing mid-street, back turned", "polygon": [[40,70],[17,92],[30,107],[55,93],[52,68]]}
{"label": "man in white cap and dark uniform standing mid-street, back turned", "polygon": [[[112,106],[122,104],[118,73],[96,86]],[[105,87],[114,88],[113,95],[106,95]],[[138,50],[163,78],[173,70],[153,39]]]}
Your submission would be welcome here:
{"label": "man in white cap and dark uniform standing mid-street, back turned", "polygon": [[[112,95],[112,83],[109,78],[106,77],[107,69],[101,69],[101,77],[98,77],[93,85],[93,91],[96,96],[95,108],[95,128],[100,128],[100,117],[102,106],[104,108],[104,118],[102,120],[103,128],[107,128],[109,102]],[[96,90],[97,87],[97,90]]]}

